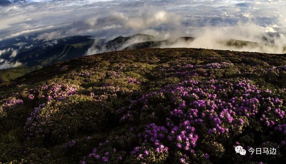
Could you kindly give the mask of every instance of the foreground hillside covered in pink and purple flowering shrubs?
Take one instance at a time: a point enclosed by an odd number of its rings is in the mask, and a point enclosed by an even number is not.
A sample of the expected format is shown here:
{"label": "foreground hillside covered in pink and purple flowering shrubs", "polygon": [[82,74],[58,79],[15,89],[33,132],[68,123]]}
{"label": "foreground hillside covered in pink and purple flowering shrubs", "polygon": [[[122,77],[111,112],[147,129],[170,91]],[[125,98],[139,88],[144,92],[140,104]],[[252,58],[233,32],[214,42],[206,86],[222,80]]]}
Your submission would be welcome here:
{"label": "foreground hillside covered in pink and purple flowering shrubs", "polygon": [[140,49],[55,63],[0,84],[0,163],[281,163],[285,82],[285,54]]}

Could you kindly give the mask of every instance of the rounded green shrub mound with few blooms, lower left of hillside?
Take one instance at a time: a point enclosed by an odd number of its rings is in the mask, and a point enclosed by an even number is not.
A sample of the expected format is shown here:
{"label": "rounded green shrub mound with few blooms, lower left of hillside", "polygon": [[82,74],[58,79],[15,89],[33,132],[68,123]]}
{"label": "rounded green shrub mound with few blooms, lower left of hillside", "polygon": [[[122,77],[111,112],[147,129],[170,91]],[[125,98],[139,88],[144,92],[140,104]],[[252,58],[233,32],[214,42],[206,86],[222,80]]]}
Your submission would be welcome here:
{"label": "rounded green shrub mound with few blooms, lower left of hillside", "polygon": [[34,109],[25,127],[31,139],[62,142],[80,131],[102,129],[106,121],[102,109],[100,104],[87,96],[74,95],[63,101],[48,101]]}

